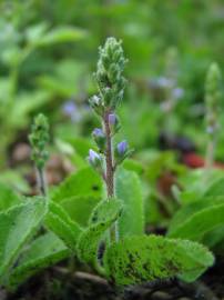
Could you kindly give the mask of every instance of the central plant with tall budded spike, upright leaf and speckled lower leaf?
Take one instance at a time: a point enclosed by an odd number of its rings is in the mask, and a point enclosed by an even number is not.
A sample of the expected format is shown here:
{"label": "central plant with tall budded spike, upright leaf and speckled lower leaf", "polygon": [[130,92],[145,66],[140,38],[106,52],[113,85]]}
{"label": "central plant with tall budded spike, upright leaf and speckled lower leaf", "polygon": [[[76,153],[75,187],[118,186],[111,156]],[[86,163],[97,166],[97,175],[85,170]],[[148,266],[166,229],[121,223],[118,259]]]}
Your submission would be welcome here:
{"label": "central plant with tall budded spike, upright leaf and speckled lower leaf", "polygon": [[[109,38],[100,48],[95,72],[99,92],[90,99],[102,127],[92,132],[98,150],[90,149],[88,158],[105,182],[108,201],[100,201],[92,210],[78,239],[78,258],[118,286],[174,276],[193,281],[213,264],[213,256],[194,242],[144,234],[138,174],[124,168],[116,173],[118,166],[131,153],[125,140],[118,144],[113,141],[120,128],[115,111],[124,92],[125,62],[121,42]],[[105,234],[108,231],[110,234]]]}

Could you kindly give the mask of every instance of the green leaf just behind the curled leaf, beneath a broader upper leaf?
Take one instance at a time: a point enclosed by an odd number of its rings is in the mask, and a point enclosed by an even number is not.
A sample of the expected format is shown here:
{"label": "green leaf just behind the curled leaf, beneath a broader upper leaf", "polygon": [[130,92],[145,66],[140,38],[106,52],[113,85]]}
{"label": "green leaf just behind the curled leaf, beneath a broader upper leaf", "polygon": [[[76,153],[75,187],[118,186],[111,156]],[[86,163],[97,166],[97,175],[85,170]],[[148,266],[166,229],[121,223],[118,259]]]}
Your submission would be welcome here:
{"label": "green leaf just behind the curled leaf, beneath a broader upper leaf", "polygon": [[90,214],[99,201],[100,198],[95,198],[92,194],[74,196],[64,199],[60,204],[73,221],[78,222],[81,227],[86,227]]}

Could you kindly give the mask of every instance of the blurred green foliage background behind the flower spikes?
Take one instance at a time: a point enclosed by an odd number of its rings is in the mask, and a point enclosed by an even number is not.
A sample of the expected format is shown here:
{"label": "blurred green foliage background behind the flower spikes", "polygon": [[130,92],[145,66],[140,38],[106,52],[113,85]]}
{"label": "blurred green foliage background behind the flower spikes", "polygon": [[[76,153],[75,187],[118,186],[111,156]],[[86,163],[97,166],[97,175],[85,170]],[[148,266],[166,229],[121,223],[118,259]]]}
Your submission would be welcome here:
{"label": "blurred green foliage background behind the flower spikes", "polygon": [[[129,58],[121,136],[143,156],[165,129],[204,153],[205,72],[212,61],[224,66],[222,0],[1,0],[0,11],[1,169],[40,111],[57,147],[85,154],[98,124],[88,104],[92,73],[109,36]],[[221,130],[220,160],[223,143]]]}

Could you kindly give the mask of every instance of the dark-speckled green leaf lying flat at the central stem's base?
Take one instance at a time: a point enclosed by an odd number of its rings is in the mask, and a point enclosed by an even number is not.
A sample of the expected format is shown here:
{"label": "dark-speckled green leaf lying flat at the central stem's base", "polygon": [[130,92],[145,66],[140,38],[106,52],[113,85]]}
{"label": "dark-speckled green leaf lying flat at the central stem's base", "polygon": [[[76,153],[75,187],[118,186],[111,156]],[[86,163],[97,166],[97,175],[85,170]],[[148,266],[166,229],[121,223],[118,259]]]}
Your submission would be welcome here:
{"label": "dark-speckled green leaf lying flat at the central stem's base", "polygon": [[203,246],[159,236],[126,237],[106,249],[106,274],[119,286],[143,283],[175,276],[194,281],[214,258]]}

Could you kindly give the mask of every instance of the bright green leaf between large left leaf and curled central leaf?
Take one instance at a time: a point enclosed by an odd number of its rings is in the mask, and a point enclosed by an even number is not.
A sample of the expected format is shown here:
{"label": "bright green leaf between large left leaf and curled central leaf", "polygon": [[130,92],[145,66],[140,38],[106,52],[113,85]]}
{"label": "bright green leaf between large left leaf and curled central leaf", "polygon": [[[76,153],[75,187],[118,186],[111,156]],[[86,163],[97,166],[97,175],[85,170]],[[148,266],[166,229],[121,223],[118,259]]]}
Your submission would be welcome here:
{"label": "bright green leaf between large left leaf and curled central leaf", "polygon": [[62,207],[55,202],[49,203],[45,217],[47,227],[53,231],[69,248],[75,250],[78,238],[82,231],[80,226],[72,221]]}

